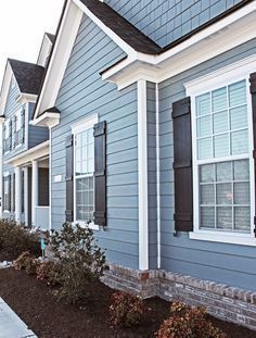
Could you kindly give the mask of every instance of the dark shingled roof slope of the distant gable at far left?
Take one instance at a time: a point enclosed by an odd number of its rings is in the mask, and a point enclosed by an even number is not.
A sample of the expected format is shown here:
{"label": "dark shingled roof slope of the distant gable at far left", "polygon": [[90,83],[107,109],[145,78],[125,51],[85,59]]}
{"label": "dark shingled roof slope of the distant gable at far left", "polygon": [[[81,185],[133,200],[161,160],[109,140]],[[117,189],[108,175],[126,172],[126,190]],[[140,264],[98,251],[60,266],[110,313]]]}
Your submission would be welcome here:
{"label": "dark shingled roof slope of the distant gable at far left", "polygon": [[40,65],[8,59],[21,92],[38,95],[44,73]]}

